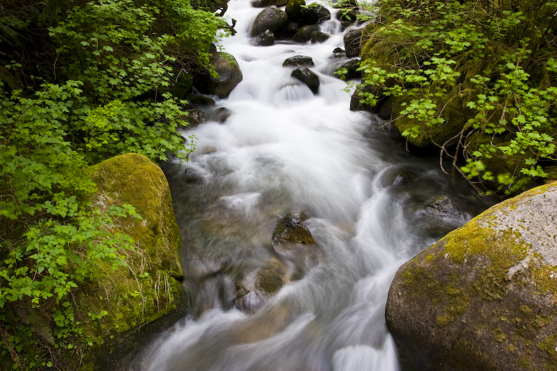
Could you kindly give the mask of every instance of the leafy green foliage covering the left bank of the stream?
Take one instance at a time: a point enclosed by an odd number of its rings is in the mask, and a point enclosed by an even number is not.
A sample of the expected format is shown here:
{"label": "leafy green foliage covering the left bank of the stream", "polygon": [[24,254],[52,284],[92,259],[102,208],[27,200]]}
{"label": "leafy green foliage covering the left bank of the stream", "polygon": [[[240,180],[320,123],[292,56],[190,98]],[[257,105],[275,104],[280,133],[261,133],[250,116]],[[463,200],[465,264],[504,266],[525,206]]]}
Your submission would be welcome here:
{"label": "leafy green foliage covering the left bank of the stream", "polygon": [[[169,87],[174,72],[210,69],[224,21],[188,0],[18,4],[0,6],[0,363],[63,369],[98,341],[85,323],[130,329],[156,317],[147,308],[166,308],[159,293],[171,300],[168,277],[149,276],[118,232],[119,219],[139,218],[134,208],[91,207],[91,165],[127,152],[187,160],[185,102]],[[129,292],[111,296],[122,312],[81,313],[75,298],[123,266]]]}

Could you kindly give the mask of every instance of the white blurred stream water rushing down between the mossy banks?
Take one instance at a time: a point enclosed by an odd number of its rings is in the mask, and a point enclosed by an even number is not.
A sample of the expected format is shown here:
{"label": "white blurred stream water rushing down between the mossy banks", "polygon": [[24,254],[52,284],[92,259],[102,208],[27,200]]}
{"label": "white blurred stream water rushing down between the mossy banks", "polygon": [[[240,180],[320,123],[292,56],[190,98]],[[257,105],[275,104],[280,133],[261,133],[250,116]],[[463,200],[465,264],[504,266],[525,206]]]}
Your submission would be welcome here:
{"label": "white blurred stream water rushing down between the mossy banks", "polygon": [[[438,161],[410,157],[384,122],[350,111],[340,24],[321,29],[322,44],[250,45],[249,24],[262,9],[232,0],[237,35],[223,40],[243,81],[207,121],[185,132],[197,150],[187,165],[168,163],[191,315],[141,352],[134,370],[398,370],[384,310],[403,262],[462,225],[482,206],[453,186]],[[334,13],[334,11],[331,11]],[[285,58],[311,56],[319,92],[290,77]],[[343,60],[345,61],[345,60]],[[207,116],[211,112],[207,111]],[[428,210],[448,196],[459,213]],[[476,205],[476,206],[475,206]],[[272,234],[290,212],[320,245],[313,265],[278,253]],[[238,277],[269,260],[295,271],[251,313],[235,306]]]}

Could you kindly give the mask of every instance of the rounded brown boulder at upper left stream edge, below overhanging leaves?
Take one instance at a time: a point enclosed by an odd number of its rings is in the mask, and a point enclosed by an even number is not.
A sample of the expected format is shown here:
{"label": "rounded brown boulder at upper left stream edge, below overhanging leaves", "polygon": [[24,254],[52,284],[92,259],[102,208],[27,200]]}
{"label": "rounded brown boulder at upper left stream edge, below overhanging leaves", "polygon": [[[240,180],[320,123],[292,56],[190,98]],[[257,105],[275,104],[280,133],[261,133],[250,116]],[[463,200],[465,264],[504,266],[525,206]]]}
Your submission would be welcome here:
{"label": "rounded brown boulder at upper left stream edge, below overhanging leaves", "polygon": [[210,63],[219,74],[214,77],[208,72],[199,74],[195,86],[203,94],[214,94],[220,98],[228,97],[230,92],[242,81],[242,71],[236,59],[228,53],[212,51]]}

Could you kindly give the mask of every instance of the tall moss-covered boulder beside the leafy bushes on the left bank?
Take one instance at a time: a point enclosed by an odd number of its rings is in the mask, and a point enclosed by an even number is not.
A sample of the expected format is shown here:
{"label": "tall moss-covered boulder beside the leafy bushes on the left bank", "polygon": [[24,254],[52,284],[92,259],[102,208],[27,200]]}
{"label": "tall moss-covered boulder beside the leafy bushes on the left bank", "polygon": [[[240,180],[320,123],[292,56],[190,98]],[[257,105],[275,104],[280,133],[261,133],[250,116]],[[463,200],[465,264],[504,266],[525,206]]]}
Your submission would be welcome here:
{"label": "tall moss-covered boulder beside the leafy bushes on the left bank", "polygon": [[[132,205],[141,219],[116,219],[114,233],[130,235],[134,250],[120,251],[125,263],[118,270],[100,269],[95,283],[77,293],[77,319],[97,347],[84,356],[92,369],[101,369],[133,352],[130,338],[141,326],[180,308],[185,295],[179,282],[180,235],[176,225],[168,182],[162,170],[143,155],[130,153],[93,167],[98,191],[92,207],[104,212],[111,205]],[[87,313],[106,313],[91,320]],[[121,342],[119,339],[127,339]],[[112,339],[112,340],[110,340]],[[113,361],[109,361],[113,360]],[[118,367],[111,363],[111,370]]]}

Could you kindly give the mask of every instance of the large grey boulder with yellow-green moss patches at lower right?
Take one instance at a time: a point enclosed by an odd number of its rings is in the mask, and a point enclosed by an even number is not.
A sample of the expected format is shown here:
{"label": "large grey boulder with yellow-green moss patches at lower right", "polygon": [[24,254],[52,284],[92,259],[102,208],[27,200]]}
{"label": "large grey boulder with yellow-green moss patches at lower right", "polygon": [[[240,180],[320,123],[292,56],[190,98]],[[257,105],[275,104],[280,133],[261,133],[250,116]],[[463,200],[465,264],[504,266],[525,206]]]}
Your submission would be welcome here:
{"label": "large grey boulder with yellow-green moss patches at lower right", "polygon": [[557,182],[398,269],[386,323],[407,370],[557,369]]}

